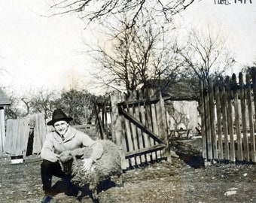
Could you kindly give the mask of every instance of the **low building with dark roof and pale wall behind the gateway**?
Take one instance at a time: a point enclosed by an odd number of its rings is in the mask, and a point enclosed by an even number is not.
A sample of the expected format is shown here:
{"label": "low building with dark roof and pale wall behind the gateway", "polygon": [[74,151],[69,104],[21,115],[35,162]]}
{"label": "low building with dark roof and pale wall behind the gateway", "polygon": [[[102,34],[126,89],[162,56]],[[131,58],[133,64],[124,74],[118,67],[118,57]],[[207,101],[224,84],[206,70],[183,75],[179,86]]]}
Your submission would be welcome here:
{"label": "low building with dark roof and pale wall behind the gateway", "polygon": [[199,81],[179,79],[175,81],[151,80],[147,87],[160,88],[167,110],[167,122],[170,131],[190,129],[196,133],[200,123],[198,112]]}

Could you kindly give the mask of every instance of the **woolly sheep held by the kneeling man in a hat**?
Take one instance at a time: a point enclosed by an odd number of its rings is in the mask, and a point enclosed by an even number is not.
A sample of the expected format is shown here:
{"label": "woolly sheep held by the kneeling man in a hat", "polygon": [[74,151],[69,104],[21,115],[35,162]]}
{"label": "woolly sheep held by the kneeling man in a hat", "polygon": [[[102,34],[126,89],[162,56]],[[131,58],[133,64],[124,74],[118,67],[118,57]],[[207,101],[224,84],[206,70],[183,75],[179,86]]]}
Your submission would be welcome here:
{"label": "woolly sheep held by the kneeling man in a hat", "polygon": [[71,183],[79,188],[89,183],[90,192],[93,199],[98,199],[97,188],[99,183],[116,175],[122,178],[122,168],[120,165],[120,154],[117,145],[108,140],[99,141],[103,147],[103,153],[100,159],[93,162],[89,171],[82,171],[82,159],[89,158],[92,148],[84,147],[76,150],[66,150],[59,155],[59,163],[62,171],[71,175]]}

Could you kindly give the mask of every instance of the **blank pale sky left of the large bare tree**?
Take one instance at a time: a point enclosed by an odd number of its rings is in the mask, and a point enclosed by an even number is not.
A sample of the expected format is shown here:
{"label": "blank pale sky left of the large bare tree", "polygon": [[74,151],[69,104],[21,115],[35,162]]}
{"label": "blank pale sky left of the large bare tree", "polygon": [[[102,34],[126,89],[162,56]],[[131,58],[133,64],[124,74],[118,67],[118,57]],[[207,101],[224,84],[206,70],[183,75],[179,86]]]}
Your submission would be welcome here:
{"label": "blank pale sky left of the large bare tree", "polygon": [[46,11],[44,1],[0,0],[1,84],[54,88],[85,74],[84,24],[75,15],[41,17]]}

